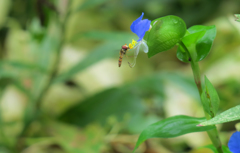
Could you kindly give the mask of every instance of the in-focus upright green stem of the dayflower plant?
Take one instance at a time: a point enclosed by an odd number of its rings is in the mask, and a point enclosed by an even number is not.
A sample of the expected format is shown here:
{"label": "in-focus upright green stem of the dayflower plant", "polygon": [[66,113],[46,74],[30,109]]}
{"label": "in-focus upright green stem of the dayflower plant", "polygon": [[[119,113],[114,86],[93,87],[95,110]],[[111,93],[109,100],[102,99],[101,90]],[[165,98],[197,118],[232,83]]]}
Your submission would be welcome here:
{"label": "in-focus upright green stem of the dayflower plant", "polygon": [[[186,51],[186,53],[190,57],[194,80],[197,85],[199,95],[201,96],[202,85],[201,85],[201,75],[200,75],[200,69],[199,69],[198,62],[196,62],[195,59],[192,58],[190,52],[188,51],[187,47],[183,44],[183,42],[180,42],[179,44],[182,46],[182,48]],[[204,101],[201,100],[201,103],[203,104]],[[211,116],[207,112],[204,111],[204,114],[205,114],[205,117],[207,118],[207,120],[211,119]],[[222,144],[219,139],[219,135],[218,135],[216,126],[214,129],[207,131],[207,134],[208,134],[209,138],[211,139],[213,145],[216,147],[218,153],[223,153]]]}

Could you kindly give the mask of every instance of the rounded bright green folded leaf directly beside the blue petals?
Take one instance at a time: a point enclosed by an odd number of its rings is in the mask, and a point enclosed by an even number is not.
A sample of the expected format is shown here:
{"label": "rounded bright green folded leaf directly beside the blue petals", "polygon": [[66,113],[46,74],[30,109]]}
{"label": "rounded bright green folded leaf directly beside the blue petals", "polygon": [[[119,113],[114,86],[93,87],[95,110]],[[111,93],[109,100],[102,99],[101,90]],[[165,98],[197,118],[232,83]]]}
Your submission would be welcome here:
{"label": "rounded bright green folded leaf directly beside the blue petals", "polygon": [[151,26],[152,29],[144,36],[149,47],[148,57],[171,49],[186,33],[185,22],[173,15],[153,20]]}

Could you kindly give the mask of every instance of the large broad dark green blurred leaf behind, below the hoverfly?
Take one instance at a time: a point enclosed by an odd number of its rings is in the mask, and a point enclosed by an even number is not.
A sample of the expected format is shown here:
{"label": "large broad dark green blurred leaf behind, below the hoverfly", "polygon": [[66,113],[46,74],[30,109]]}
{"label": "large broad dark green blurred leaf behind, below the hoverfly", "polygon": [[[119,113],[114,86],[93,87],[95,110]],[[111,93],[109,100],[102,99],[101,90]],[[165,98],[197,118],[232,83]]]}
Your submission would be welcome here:
{"label": "large broad dark green blurred leaf behind, below the hoverfly", "polygon": [[[104,123],[109,116],[116,116],[123,119],[126,114],[129,115],[125,128],[131,131],[143,130],[153,113],[145,113],[142,98],[152,98],[158,96],[164,99],[163,81],[159,75],[143,78],[135,82],[124,85],[118,89],[112,88],[100,92],[93,97],[89,97],[83,102],[71,107],[66,113],[61,115],[60,119],[71,124],[84,126],[90,122],[99,121]],[[161,101],[160,101],[161,102]],[[163,101],[162,101],[163,102]],[[158,110],[158,108],[155,108]],[[156,121],[156,117],[151,117],[152,121]],[[135,120],[141,120],[142,127],[129,127],[132,123],[139,123]],[[149,124],[148,124],[149,125]],[[136,131],[134,131],[136,132]]]}

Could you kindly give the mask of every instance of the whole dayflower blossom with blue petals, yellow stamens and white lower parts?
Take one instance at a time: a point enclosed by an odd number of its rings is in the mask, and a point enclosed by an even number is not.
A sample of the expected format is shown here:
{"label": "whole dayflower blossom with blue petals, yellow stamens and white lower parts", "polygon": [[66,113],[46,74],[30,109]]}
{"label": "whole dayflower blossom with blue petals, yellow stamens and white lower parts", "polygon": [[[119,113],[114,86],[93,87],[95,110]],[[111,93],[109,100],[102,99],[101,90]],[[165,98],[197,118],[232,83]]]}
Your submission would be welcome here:
{"label": "whole dayflower blossom with blue petals, yellow stamens and white lower parts", "polygon": [[148,19],[144,19],[143,18],[144,13],[142,13],[142,15],[137,18],[135,21],[133,21],[132,25],[130,26],[130,29],[133,33],[135,33],[138,36],[138,40],[137,42],[135,40],[132,41],[132,43],[129,44],[129,48],[134,50],[134,61],[132,64],[129,63],[130,67],[133,67],[136,63],[136,58],[137,55],[139,53],[140,48],[147,53],[148,52],[148,46],[147,46],[147,42],[143,39],[145,32],[150,30],[151,28],[151,21]]}

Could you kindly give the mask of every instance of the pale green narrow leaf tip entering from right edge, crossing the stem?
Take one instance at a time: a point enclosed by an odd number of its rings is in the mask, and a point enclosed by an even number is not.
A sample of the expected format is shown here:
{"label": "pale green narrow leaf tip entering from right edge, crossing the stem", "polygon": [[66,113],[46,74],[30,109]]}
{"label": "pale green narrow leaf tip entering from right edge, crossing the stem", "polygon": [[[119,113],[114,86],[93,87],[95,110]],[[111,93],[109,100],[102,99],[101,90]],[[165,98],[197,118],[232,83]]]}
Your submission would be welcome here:
{"label": "pale green narrow leaf tip entering from right edge, crossing the stem", "polygon": [[221,124],[239,119],[240,119],[240,105],[230,108],[208,121],[200,123],[200,126]]}

